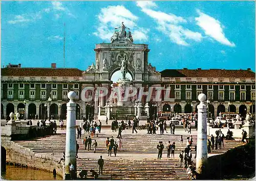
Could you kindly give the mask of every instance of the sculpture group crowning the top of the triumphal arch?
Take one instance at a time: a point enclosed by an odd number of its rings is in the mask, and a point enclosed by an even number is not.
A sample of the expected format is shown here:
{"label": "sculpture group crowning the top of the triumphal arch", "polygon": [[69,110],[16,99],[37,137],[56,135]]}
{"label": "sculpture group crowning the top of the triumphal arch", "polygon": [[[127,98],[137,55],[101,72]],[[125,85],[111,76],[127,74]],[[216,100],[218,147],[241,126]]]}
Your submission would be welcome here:
{"label": "sculpture group crowning the top of the triumphal arch", "polygon": [[111,37],[111,39],[110,39],[111,43],[115,40],[126,40],[127,42],[130,42],[130,43],[133,42],[132,33],[130,31],[128,31],[128,32],[125,31],[125,29],[128,29],[128,30],[130,30],[130,29],[125,27],[123,25],[123,22],[119,27],[117,27],[115,29],[118,29],[118,30],[115,31],[113,36]]}

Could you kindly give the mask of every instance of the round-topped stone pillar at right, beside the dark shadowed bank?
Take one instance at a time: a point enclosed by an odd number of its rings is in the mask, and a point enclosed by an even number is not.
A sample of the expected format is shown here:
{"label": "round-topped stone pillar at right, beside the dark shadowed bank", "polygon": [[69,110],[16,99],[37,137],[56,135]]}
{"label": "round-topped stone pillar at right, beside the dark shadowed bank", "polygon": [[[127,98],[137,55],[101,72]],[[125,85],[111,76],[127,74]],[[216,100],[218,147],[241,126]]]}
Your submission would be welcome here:
{"label": "round-topped stone pillar at right, beside the dark shadowed bank", "polygon": [[207,126],[206,126],[206,100],[205,94],[199,94],[200,104],[198,108],[198,130],[197,130],[197,164],[196,170],[199,174],[205,174],[205,166],[207,163]]}

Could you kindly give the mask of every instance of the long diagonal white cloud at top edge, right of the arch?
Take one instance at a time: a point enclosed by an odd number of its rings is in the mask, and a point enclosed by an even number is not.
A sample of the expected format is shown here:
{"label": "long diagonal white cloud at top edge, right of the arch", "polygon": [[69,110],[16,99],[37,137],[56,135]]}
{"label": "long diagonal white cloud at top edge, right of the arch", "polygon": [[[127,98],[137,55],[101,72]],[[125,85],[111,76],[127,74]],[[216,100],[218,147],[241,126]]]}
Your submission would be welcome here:
{"label": "long diagonal white cloud at top edge, right of the arch", "polygon": [[188,46],[187,39],[194,41],[201,41],[202,35],[199,32],[193,32],[191,30],[183,28],[179,24],[187,22],[181,16],[176,16],[172,13],[165,13],[162,11],[155,11],[152,8],[157,7],[154,2],[136,2],[137,6],[141,8],[141,11],[152,17],[157,22],[157,30],[164,33],[170,38],[171,41],[180,44],[182,46]]}

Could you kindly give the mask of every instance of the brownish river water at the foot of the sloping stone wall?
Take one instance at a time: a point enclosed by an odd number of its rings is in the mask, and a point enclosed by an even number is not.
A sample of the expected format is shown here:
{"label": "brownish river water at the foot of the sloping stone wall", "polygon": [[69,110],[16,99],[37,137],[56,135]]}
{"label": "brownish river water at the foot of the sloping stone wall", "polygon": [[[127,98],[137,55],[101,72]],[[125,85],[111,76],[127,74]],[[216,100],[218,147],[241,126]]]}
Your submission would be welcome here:
{"label": "brownish river water at the foot of the sloping stone wall", "polygon": [[6,165],[6,172],[2,173],[2,177],[7,180],[62,180],[58,175],[54,178],[51,172],[13,165]]}

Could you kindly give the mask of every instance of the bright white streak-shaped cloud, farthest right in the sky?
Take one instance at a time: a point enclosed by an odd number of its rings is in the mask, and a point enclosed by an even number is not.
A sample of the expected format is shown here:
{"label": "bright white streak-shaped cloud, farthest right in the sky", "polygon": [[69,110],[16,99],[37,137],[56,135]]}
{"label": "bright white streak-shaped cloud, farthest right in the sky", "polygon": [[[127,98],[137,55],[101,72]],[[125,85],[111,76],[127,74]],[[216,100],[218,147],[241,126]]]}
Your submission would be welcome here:
{"label": "bright white streak-shaped cloud, farthest right in the sky", "polygon": [[230,42],[223,32],[224,26],[221,25],[221,22],[205,13],[202,13],[200,10],[197,10],[199,17],[196,17],[196,24],[201,27],[205,34],[214,38],[222,44],[225,44],[230,47],[236,46],[233,42]]}

